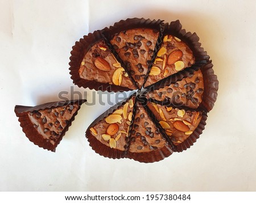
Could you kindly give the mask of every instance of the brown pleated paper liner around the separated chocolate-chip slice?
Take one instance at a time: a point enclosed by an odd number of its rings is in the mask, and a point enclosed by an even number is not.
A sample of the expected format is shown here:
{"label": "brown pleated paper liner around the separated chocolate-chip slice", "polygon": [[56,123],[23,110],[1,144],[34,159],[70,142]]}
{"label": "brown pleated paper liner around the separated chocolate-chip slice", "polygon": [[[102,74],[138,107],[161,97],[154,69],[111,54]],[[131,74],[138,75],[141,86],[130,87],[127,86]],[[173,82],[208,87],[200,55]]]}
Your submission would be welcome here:
{"label": "brown pleated paper liner around the separated chocolate-chip slice", "polygon": [[[59,102],[49,102],[49,103],[37,105],[35,107],[16,105],[14,108],[14,111],[16,116],[19,117],[18,120],[20,122],[20,126],[22,127],[22,130],[25,133],[26,137],[35,145],[38,145],[43,149],[54,152],[56,150],[57,145],[59,145],[61,139],[63,138],[63,136],[68,131],[69,126],[71,126],[72,121],[75,120],[75,116],[77,115],[77,112],[80,109],[80,105],[84,102],[86,102],[86,100],[70,100],[70,101],[66,100],[66,101],[59,101]],[[57,141],[55,142],[55,145],[52,145],[50,142],[48,142],[47,139],[44,139],[42,136],[40,136],[40,134],[38,134],[38,131],[34,128],[27,114],[27,112],[39,111],[43,109],[52,109],[52,108],[57,108],[57,107],[62,107],[65,105],[72,105],[72,104],[79,104],[79,107],[77,111],[73,114],[71,120],[68,121],[67,126],[65,126],[65,128],[63,129],[59,139],[57,139]]]}

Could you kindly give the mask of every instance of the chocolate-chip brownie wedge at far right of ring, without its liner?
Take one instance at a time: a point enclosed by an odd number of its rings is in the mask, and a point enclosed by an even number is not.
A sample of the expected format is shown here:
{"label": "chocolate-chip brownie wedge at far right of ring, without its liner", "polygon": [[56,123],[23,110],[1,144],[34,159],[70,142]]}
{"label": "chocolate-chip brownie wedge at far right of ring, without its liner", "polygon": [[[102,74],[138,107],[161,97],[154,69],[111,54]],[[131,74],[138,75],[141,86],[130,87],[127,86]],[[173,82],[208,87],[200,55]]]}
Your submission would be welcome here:
{"label": "chocolate-chip brownie wedge at far right of ring, without its liner", "polygon": [[187,78],[171,84],[160,84],[160,88],[152,86],[148,89],[146,98],[173,105],[183,105],[196,109],[202,102],[204,80],[201,70],[195,71]]}

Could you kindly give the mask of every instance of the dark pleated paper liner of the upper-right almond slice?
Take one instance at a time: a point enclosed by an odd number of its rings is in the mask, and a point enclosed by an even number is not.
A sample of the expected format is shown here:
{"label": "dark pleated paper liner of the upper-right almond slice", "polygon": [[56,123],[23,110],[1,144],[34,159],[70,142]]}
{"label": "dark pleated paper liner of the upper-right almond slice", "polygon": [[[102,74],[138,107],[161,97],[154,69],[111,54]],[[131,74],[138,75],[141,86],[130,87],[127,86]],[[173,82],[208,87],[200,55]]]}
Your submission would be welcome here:
{"label": "dark pleated paper liner of the upper-right almond slice", "polygon": [[[179,38],[181,41],[188,45],[188,47],[193,52],[193,56],[195,57],[195,64],[193,64],[191,67],[187,67],[184,70],[181,70],[167,77],[169,79],[171,78],[172,81],[180,81],[184,77],[188,77],[189,74],[192,74],[194,71],[199,70],[203,64],[207,64],[207,62],[209,61],[209,56],[207,52],[204,51],[204,48],[201,47],[201,43],[199,43],[199,36],[197,36],[195,32],[191,33],[187,32],[185,29],[182,29],[182,25],[179,20],[171,22],[170,24],[165,24],[163,37],[165,35],[173,35]],[[154,84],[151,84],[150,86],[152,85]]]}

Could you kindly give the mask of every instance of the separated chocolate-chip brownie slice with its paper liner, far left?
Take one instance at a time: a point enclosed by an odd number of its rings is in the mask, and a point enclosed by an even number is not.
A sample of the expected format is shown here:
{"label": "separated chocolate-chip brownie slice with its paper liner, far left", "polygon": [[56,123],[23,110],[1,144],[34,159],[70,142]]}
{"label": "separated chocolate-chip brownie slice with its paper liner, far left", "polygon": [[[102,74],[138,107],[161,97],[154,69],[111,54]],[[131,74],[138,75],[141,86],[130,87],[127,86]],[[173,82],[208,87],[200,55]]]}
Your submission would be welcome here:
{"label": "separated chocolate-chip brownie slice with its paper liner, far left", "polygon": [[26,137],[43,149],[55,151],[86,100],[50,102],[35,107],[15,106]]}

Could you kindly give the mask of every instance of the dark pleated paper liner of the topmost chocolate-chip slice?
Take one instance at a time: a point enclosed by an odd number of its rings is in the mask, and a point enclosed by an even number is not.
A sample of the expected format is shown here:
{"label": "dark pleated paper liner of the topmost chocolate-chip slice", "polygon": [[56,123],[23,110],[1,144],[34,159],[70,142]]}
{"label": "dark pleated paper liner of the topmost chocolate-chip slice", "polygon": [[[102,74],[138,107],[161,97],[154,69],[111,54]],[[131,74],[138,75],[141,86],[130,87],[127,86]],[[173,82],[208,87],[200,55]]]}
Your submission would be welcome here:
{"label": "dark pleated paper liner of the topmost chocolate-chip slice", "polygon": [[[144,19],[144,18],[129,18],[126,20],[120,20],[119,22],[115,23],[113,26],[110,26],[109,28],[104,28],[102,34],[105,36],[108,46],[112,47],[111,50],[113,51],[114,56],[117,58],[118,61],[121,61],[122,67],[126,67],[125,62],[123,62],[121,58],[119,58],[117,52],[115,52],[115,49],[113,48],[112,44],[110,44],[109,41],[114,37],[115,33],[119,33],[127,29],[133,29],[133,28],[151,28],[159,31],[159,37],[158,37],[158,40],[156,41],[156,46],[150,60],[151,62],[148,65],[148,70],[143,82],[143,85],[144,85],[144,83],[146,82],[146,78],[150,73],[150,69],[154,62],[154,58],[156,57],[156,54],[162,42],[161,39],[163,38],[163,31],[164,31],[163,20],[150,20],[150,19]],[[129,73],[129,71],[127,71],[127,73]],[[131,77],[130,73],[129,73],[129,77],[134,82],[134,85],[137,86],[133,77]]]}

